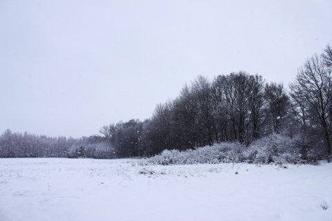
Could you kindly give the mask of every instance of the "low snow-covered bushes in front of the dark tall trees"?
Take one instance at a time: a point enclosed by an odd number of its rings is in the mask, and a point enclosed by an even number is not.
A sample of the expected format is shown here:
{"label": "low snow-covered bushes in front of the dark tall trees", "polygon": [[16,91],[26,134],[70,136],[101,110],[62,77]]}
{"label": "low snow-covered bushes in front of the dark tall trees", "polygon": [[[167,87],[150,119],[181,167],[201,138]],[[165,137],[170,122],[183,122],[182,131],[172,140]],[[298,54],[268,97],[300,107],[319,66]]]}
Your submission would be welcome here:
{"label": "low snow-covered bushes in front of the dark tall trees", "polygon": [[255,164],[297,164],[303,162],[296,141],[282,135],[263,137],[250,146],[221,143],[194,150],[165,150],[147,159],[147,164],[217,164],[247,162]]}

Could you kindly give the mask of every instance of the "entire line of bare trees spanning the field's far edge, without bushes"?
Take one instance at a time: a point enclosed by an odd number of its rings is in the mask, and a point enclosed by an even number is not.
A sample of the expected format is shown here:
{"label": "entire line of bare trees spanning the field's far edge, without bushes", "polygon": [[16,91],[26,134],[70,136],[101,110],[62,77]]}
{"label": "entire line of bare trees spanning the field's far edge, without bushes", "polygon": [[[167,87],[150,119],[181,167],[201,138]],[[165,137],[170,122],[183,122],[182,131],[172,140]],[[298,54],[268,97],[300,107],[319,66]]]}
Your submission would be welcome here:
{"label": "entire line of bare trees spanning the field's far edge, without bushes", "polygon": [[197,77],[180,95],[158,104],[154,115],[103,126],[103,136],[75,140],[21,135],[0,137],[1,157],[142,157],[164,150],[185,151],[221,142],[249,145],[271,134],[297,142],[302,159],[308,151],[331,157],[332,48],[313,55],[299,68],[287,91],[244,71]]}

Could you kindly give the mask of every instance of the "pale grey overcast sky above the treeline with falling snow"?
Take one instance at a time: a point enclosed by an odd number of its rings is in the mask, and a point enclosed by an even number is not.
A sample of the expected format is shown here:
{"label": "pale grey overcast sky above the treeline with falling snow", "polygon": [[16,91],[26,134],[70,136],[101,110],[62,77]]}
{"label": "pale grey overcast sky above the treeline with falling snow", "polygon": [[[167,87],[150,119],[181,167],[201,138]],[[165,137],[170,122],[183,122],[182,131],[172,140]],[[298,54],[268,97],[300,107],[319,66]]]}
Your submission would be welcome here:
{"label": "pale grey overcast sky above the treeline with falling snow", "polygon": [[151,117],[198,75],[293,81],[332,1],[0,0],[0,133],[81,137]]}

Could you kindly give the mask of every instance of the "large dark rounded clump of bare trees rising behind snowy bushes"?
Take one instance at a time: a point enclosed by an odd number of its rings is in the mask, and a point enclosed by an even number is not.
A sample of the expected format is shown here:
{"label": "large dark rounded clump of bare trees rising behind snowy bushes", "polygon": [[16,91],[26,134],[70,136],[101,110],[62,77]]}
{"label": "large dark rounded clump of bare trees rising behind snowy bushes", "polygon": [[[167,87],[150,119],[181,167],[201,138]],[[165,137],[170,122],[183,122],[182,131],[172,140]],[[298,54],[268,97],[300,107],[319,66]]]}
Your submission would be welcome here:
{"label": "large dark rounded clump of bare trees rising behind snowy bushes", "polygon": [[286,131],[288,104],[282,84],[266,84],[259,75],[231,73],[214,81],[199,76],[173,102],[156,107],[145,122],[142,145],[154,155],[219,142],[250,144]]}

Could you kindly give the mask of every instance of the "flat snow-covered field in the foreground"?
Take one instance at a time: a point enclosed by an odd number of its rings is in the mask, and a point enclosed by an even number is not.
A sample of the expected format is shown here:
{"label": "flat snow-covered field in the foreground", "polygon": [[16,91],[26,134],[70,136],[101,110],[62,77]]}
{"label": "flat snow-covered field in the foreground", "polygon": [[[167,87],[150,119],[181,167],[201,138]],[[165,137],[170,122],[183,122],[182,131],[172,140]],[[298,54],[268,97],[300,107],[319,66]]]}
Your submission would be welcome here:
{"label": "flat snow-covered field in the foreground", "polygon": [[332,164],[0,159],[0,220],[332,220]]}

